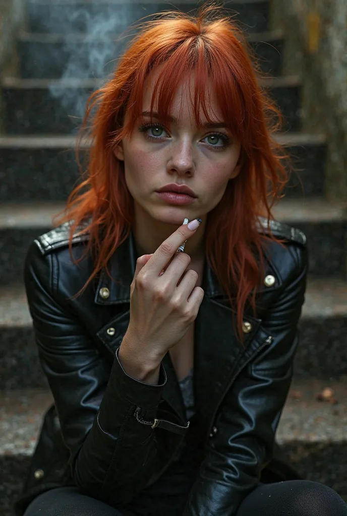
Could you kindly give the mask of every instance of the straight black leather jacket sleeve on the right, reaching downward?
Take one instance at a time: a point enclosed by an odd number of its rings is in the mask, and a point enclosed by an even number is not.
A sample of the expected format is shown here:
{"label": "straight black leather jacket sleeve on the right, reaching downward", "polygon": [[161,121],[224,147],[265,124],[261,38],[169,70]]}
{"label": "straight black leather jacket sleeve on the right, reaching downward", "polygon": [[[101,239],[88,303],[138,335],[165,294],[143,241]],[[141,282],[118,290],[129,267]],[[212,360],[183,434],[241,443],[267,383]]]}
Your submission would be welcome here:
{"label": "straight black leather jacket sleeve on the right, reaching downward", "polygon": [[306,289],[307,250],[288,247],[294,265],[262,319],[273,342],[248,363],[226,394],[215,422],[217,433],[207,443],[183,516],[234,516],[272,459]]}

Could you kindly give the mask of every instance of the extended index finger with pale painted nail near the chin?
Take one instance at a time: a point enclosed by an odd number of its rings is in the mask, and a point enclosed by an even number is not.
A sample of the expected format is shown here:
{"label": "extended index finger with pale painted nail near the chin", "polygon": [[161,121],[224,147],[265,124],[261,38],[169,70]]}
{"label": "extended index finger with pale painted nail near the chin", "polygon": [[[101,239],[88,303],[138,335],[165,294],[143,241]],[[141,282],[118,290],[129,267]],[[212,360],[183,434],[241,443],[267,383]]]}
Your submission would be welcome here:
{"label": "extended index finger with pale painted nail near the chin", "polygon": [[[198,229],[201,219],[194,219],[196,222],[196,228],[191,230],[188,228],[188,224],[182,224],[175,232],[172,233],[163,243],[157,248],[150,259],[151,271],[154,275],[158,276],[159,273],[165,269],[173,255],[177,252],[178,248],[191,236],[193,236]],[[194,221],[192,221],[194,222]]]}

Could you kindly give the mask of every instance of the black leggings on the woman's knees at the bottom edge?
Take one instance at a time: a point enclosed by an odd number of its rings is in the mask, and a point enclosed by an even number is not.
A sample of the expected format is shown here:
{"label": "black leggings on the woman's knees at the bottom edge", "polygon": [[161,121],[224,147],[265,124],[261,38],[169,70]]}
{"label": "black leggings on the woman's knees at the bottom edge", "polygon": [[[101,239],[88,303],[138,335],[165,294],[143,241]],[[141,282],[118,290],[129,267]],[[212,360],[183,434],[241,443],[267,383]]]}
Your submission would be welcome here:
{"label": "black leggings on the woman's knees at the bottom edge", "polygon": [[[155,510],[117,510],[79,493],[77,488],[62,487],[35,498],[24,516],[155,516]],[[288,480],[258,486],[244,499],[236,516],[347,516],[347,505],[321,483]]]}

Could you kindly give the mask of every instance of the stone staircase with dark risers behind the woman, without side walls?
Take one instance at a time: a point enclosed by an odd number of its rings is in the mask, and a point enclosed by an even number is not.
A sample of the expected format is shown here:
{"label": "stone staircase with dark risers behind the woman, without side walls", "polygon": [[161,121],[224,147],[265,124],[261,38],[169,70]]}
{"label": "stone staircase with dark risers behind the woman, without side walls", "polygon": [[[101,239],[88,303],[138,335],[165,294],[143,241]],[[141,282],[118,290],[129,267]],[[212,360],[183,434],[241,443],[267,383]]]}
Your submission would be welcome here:
{"label": "stone staircase with dark risers behind the woman, without side walls", "polygon": [[[276,1],[276,0],[273,0]],[[173,3],[182,11],[195,3]],[[292,174],[278,220],[308,238],[310,275],[299,323],[295,377],[278,441],[307,478],[326,483],[347,501],[347,221],[343,206],[324,197],[324,134],[301,132],[302,78],[282,75],[286,38],[271,26],[265,0],[238,0],[249,41],[267,73],[263,81],[286,117],[277,138],[288,147],[304,186]],[[78,181],[76,128],[89,92],[114,66],[126,40],[112,44],[141,17],[165,3],[31,0],[18,35],[18,66],[2,77],[0,135],[0,513],[13,516],[44,410],[51,394],[37,359],[23,288],[30,242],[51,227]],[[102,30],[101,30],[102,29]],[[130,31],[132,34],[133,30]],[[111,40],[111,41],[110,41]],[[89,56],[89,57],[88,57]],[[73,117],[71,116],[73,115]],[[77,117],[77,118],[76,118]],[[326,386],[337,404],[318,401]]]}

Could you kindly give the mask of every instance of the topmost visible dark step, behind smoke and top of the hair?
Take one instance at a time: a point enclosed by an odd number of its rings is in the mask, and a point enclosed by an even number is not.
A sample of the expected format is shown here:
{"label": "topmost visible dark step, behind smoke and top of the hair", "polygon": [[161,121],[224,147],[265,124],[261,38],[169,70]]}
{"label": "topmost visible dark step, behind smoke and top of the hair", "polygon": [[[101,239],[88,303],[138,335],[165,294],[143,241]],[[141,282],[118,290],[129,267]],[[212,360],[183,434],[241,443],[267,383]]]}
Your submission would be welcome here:
{"label": "topmost visible dark step, behind smoke and top of the hair", "polygon": [[[63,5],[62,5],[63,4]],[[236,11],[235,19],[249,32],[269,30],[267,0],[236,0],[224,3],[226,13]],[[195,12],[197,2],[178,0],[175,3],[150,0],[71,0],[27,2],[27,29],[32,33],[119,34],[124,26],[151,20],[153,15],[168,10]],[[231,14],[234,14],[232,12]],[[147,17],[147,18],[145,18]]]}

